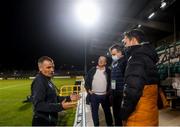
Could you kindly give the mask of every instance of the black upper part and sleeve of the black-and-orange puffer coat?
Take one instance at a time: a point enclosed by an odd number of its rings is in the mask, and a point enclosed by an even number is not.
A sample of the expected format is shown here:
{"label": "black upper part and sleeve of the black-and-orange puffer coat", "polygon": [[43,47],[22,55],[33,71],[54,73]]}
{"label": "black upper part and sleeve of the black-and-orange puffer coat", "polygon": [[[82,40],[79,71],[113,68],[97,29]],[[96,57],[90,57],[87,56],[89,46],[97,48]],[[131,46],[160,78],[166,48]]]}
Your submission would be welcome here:
{"label": "black upper part and sleeve of the black-and-orange puffer coat", "polygon": [[157,84],[159,81],[156,69],[158,55],[149,43],[130,47],[127,55],[128,61],[121,106],[123,120],[127,120],[135,110],[142,96],[144,85]]}

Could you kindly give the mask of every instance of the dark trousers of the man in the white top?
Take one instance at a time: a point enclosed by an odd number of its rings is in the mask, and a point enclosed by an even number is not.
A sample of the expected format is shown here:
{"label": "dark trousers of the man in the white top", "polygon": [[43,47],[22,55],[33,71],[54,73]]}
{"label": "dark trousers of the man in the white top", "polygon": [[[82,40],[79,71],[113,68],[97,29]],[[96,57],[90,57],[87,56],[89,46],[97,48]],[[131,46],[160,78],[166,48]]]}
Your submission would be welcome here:
{"label": "dark trousers of the man in the white top", "polygon": [[110,103],[107,96],[92,94],[90,96],[90,104],[91,104],[91,112],[92,112],[94,126],[99,126],[99,114],[98,114],[99,104],[101,104],[104,110],[107,126],[112,126],[113,120],[112,120],[112,114],[110,110]]}

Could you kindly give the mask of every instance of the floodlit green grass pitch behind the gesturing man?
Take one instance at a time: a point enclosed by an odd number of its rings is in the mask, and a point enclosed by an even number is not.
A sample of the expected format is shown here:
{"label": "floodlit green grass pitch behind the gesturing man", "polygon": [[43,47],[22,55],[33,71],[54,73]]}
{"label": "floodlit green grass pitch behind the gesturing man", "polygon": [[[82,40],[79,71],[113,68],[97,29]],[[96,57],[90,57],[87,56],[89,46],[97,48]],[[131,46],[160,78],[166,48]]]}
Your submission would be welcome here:
{"label": "floodlit green grass pitch behind the gesturing man", "polygon": [[[32,80],[0,80],[0,126],[31,126],[32,104],[22,103],[30,95]],[[54,84],[73,85],[75,79],[55,79]],[[72,126],[75,109],[60,114],[59,125]]]}

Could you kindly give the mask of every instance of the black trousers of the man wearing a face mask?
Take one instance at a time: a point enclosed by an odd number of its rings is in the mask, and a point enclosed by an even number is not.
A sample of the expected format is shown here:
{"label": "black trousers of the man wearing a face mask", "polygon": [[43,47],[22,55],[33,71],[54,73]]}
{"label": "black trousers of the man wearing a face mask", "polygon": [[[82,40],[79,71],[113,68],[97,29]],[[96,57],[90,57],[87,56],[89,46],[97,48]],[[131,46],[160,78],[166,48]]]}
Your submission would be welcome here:
{"label": "black trousers of the man wearing a face mask", "polygon": [[115,126],[122,126],[122,119],[121,119],[122,97],[123,97],[122,91],[112,92],[112,107],[113,107],[113,116],[115,120]]}

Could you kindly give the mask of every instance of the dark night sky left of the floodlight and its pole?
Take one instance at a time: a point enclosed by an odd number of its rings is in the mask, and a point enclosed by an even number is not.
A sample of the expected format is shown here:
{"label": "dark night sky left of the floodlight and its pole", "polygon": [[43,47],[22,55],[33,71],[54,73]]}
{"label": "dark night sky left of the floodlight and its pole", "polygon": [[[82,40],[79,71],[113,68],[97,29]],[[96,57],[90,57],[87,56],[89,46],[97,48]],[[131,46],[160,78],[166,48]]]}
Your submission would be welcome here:
{"label": "dark night sky left of the floodlight and its pole", "polygon": [[84,66],[83,29],[73,14],[73,2],[11,0],[3,4],[0,69],[32,70],[47,55],[56,67]]}

